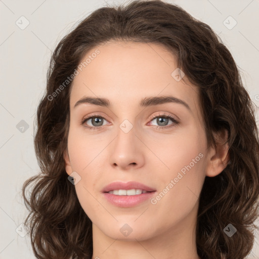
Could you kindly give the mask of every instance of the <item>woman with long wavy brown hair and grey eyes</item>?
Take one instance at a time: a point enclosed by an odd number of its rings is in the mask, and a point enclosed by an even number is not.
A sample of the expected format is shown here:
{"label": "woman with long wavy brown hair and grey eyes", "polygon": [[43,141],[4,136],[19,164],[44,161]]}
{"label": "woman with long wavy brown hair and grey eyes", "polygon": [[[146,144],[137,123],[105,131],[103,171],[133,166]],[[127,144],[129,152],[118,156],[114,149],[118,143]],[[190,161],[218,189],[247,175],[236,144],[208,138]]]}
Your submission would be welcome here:
{"label": "woman with long wavy brown hair and grey eyes", "polygon": [[252,249],[254,107],[217,34],[178,6],[100,8],[61,40],[35,152],[41,174],[23,197],[37,258],[242,259]]}

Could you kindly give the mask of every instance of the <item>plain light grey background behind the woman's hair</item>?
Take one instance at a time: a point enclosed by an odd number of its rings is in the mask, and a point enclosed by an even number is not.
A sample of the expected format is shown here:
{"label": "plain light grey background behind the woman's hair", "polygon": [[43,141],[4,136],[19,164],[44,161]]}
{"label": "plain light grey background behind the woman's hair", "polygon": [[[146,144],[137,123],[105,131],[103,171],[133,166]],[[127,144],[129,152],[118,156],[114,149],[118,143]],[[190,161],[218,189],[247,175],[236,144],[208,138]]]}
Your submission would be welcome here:
{"label": "plain light grey background behind the woman's hair", "polygon": [[[251,99],[259,106],[259,1],[165,2],[180,5],[220,35],[241,69]],[[79,20],[106,3],[118,5],[125,1],[0,0],[1,259],[35,258],[29,234],[20,236],[23,230],[19,226],[27,215],[21,198],[21,187],[27,178],[39,170],[33,147],[33,127],[36,107],[46,88],[51,52]],[[16,25],[16,21],[25,24],[21,16],[29,21],[23,30]],[[232,29],[224,25],[229,16],[237,22]],[[234,24],[231,19],[226,22],[228,26]],[[26,127],[24,130],[17,128],[21,120],[28,124],[27,130]],[[17,228],[20,234],[16,232]],[[259,258],[258,233],[256,236],[256,243],[248,258]]]}

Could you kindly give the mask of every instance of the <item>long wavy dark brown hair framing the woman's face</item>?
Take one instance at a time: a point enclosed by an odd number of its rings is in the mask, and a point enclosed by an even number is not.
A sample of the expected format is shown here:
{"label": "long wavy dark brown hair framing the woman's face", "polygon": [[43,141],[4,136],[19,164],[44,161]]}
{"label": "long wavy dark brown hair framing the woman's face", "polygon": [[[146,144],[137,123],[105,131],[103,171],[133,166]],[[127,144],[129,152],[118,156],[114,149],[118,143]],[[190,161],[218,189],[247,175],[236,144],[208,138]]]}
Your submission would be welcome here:
{"label": "long wavy dark brown hair framing the woman's face", "polygon": [[[47,91],[36,116],[34,147],[40,173],[22,187],[29,214],[25,225],[37,258],[92,258],[92,222],[68,181],[64,152],[69,130],[71,84],[50,100],[88,51],[109,40],[167,47],[199,90],[208,146],[212,132],[228,131],[230,163],[201,190],[196,244],[202,259],[243,259],[252,250],[258,217],[259,142],[255,107],[230,51],[205,23],[177,5],[134,1],[103,7],[83,19],[58,44],[47,75]],[[31,183],[30,197],[25,191]],[[228,237],[224,228],[237,232]]]}

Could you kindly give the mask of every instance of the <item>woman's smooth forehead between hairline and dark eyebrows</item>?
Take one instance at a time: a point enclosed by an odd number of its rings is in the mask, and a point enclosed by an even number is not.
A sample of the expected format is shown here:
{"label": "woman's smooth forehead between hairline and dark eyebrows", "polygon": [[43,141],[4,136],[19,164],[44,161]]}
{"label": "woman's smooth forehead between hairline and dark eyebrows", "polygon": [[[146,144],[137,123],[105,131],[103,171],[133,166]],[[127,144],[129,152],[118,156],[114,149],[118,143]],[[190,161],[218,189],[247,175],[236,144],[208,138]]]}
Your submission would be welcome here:
{"label": "woman's smooth forehead between hairline and dark eyebrows", "polygon": [[[99,54],[93,55],[97,50]],[[197,105],[197,89],[187,78],[176,80],[176,58],[162,45],[111,41],[88,51],[80,64],[72,83],[71,107],[83,96],[104,97],[111,105],[137,105],[147,96],[173,95],[191,108]]]}

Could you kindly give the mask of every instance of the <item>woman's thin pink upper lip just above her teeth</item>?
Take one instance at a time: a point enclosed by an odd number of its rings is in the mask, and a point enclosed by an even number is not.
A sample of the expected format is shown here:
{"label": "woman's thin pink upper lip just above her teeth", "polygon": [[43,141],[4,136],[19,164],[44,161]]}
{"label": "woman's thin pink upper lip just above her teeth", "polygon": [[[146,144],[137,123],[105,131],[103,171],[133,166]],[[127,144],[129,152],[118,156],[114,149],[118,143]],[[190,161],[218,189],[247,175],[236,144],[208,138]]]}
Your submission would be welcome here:
{"label": "woman's thin pink upper lip just above her teeth", "polygon": [[131,190],[131,189],[141,189],[141,190],[145,190],[148,192],[155,191],[154,188],[146,186],[146,185],[138,183],[138,182],[127,182],[127,183],[113,182],[111,184],[106,185],[103,188],[102,192],[109,192],[109,191],[113,191],[113,190]]}

